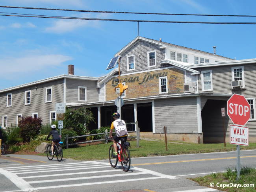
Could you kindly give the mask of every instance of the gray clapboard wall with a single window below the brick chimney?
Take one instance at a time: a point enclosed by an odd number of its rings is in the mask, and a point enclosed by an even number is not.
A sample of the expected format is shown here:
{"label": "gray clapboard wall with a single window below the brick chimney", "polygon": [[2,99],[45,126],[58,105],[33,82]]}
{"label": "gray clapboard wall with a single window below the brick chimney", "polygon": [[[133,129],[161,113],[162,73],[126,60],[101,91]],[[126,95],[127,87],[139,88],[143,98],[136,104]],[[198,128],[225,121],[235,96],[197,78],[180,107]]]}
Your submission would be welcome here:
{"label": "gray clapboard wall with a single window below the brick chimney", "polygon": [[[87,102],[98,101],[98,90],[96,88],[97,81],[88,81],[82,79],[66,80],[66,102],[78,102],[78,86],[87,88]],[[83,103],[83,102],[82,102]]]}

